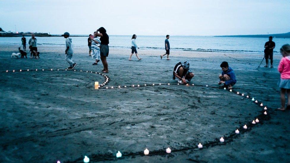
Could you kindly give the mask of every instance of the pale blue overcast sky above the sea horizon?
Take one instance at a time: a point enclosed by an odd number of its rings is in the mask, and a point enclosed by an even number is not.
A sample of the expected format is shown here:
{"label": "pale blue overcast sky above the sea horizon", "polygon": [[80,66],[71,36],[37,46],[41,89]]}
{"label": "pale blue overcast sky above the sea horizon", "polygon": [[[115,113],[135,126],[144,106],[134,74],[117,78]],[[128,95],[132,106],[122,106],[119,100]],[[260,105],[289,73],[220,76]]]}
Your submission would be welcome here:
{"label": "pale blue overcast sky above the sea horizon", "polygon": [[0,0],[4,31],[236,35],[290,31],[289,0]]}

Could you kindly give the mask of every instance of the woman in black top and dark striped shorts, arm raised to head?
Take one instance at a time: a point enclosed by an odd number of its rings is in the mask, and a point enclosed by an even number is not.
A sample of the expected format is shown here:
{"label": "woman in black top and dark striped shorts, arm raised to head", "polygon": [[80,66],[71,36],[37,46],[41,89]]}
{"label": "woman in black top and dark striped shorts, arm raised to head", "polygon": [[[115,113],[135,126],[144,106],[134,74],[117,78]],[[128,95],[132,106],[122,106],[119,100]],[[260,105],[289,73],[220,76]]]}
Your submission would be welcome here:
{"label": "woman in black top and dark striped shorts, arm raised to head", "polygon": [[105,72],[105,73],[109,72],[108,63],[107,63],[107,56],[109,55],[109,46],[108,46],[109,36],[106,32],[107,31],[104,27],[101,27],[97,29],[96,31],[96,36],[100,36],[100,41],[101,41],[100,56],[101,56],[101,60],[104,66],[104,69],[102,70],[102,72]]}

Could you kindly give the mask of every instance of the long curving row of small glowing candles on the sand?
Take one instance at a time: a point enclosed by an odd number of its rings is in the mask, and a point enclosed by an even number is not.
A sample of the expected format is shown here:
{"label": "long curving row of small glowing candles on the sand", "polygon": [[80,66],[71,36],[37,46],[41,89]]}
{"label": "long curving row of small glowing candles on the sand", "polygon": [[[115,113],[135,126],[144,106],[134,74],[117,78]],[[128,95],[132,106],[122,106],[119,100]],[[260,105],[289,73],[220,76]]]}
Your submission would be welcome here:
{"label": "long curving row of small glowing candles on the sand", "polygon": [[[53,69],[50,69],[51,71],[53,71]],[[21,72],[22,70],[20,69],[19,70],[19,72]],[[29,69],[27,69],[27,71],[29,71]],[[35,71],[38,71],[37,69],[35,69]],[[44,69],[42,69],[42,71],[44,71]],[[59,69],[57,69],[57,71],[59,71]],[[67,71],[67,69],[65,69],[65,71]],[[74,70],[74,71],[76,71],[76,70]],[[8,70],[6,70],[6,72],[9,72]],[[13,70],[12,72],[15,72],[15,70]],[[82,70],[80,70],[80,72],[82,72]],[[89,72],[89,71],[86,71],[86,72]],[[91,71],[91,73],[93,73],[92,71]],[[104,76],[105,77],[105,82],[103,82],[100,86],[99,86],[99,82],[95,82],[95,89],[99,89],[101,86],[105,86],[107,83],[108,83],[108,81],[109,81],[109,77],[108,76],[106,76],[106,75],[104,75],[104,74],[101,74],[101,73],[98,73],[98,72],[95,72],[95,74],[99,74],[99,75],[102,75],[102,76]],[[170,85],[170,83],[168,83],[168,84],[161,84],[161,83],[159,83],[159,85]],[[179,83],[177,83],[177,85],[179,85]],[[189,86],[189,84],[187,83],[187,84],[185,84],[186,86]],[[144,86],[147,86],[146,84],[144,84]],[[150,86],[150,85],[148,85],[148,86]],[[155,86],[155,84],[153,83],[152,84],[152,86]],[[194,84],[192,84],[192,86],[194,86]],[[132,85],[132,87],[135,87],[135,85]],[[140,87],[140,85],[137,85],[137,87]],[[206,85],[206,87],[208,87],[208,85]],[[109,87],[106,87],[107,89],[109,88]],[[112,87],[110,87],[110,88],[115,88],[114,86],[112,86]],[[118,86],[118,88],[121,88],[121,86]],[[127,86],[124,86],[124,88],[127,88]],[[225,90],[226,90],[226,88],[224,88]],[[230,89],[229,90],[230,92],[232,92],[232,90]],[[245,96],[244,94],[240,94],[239,92],[237,92],[237,94],[238,95],[241,95],[241,96]],[[246,96],[246,98],[250,98],[248,95]],[[258,103],[258,101],[256,100],[255,101],[255,99],[254,98],[252,98],[252,101],[254,101],[255,103]],[[260,104],[260,106],[261,107],[263,107],[263,103],[261,103]],[[267,107],[265,106],[264,107],[264,115],[267,115]],[[258,118],[256,118],[256,120],[253,120],[251,123],[252,124],[256,124],[256,123],[259,123],[260,121],[259,121],[259,119]],[[244,126],[243,126],[243,129],[248,129],[248,126],[245,124]],[[239,130],[238,129],[236,129],[235,130],[235,133],[236,134],[239,134],[240,132],[239,132]],[[224,137],[221,137],[220,138],[220,142],[221,143],[223,143],[225,141],[225,139],[224,139]],[[203,148],[203,145],[201,144],[201,143],[199,143],[198,145],[197,145],[197,147],[198,148]],[[171,149],[168,147],[168,148],[166,148],[166,153],[171,153]],[[149,150],[146,148],[145,150],[144,150],[144,155],[149,155]],[[119,157],[122,157],[122,153],[120,152],[120,151],[118,151],[117,153],[116,153],[116,157],[117,158],[119,158]],[[88,163],[90,161],[90,159],[89,159],[89,157],[88,156],[85,156],[84,157],[84,159],[83,159],[83,162],[85,162],[85,163]],[[57,163],[61,163],[60,161],[57,161]]]}

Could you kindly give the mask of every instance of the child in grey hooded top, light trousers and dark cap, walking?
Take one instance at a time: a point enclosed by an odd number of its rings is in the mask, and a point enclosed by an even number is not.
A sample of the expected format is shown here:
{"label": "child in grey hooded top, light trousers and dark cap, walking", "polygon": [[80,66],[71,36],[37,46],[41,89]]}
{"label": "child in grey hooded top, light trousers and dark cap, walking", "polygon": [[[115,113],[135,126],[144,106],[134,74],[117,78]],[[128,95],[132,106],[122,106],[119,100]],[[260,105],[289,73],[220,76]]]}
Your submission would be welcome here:
{"label": "child in grey hooded top, light trousers and dark cap, walking", "polygon": [[70,37],[70,33],[64,32],[62,35],[65,38],[65,60],[70,64],[70,67],[67,69],[74,69],[77,63],[73,62],[73,44],[72,44],[72,39]]}

